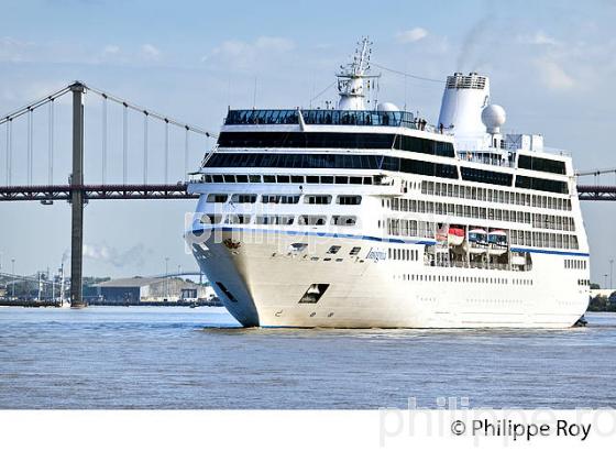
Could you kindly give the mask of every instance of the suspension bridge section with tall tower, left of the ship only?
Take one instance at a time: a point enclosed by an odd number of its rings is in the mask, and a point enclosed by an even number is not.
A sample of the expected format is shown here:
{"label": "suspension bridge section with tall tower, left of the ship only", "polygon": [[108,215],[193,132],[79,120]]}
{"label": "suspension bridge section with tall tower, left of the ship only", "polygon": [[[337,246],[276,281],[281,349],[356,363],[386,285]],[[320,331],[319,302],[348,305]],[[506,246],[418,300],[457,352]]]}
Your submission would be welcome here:
{"label": "suspension bridge section with tall tower, left of the ship only", "polygon": [[[100,99],[99,117],[100,117],[100,182],[97,184],[88,185],[84,178],[84,164],[85,164],[85,95],[91,94]],[[72,132],[69,146],[72,147],[72,167],[68,182],[65,184],[55,183],[57,176],[54,170],[56,169],[56,161],[67,155],[58,155],[56,152],[56,109],[61,100],[67,96],[72,97],[72,111],[69,113],[72,120]],[[110,183],[108,174],[109,161],[109,139],[116,136],[110,131],[110,106],[117,106],[121,110],[121,168],[122,177],[121,183]],[[35,114],[40,114],[41,110],[46,109],[46,176],[45,184],[34,184],[35,179],[35,165],[41,160],[45,160],[44,155],[34,154],[35,135],[40,135],[40,131],[35,130],[34,123]],[[129,150],[135,148],[135,145],[130,145],[134,139],[129,135],[130,117],[141,117],[141,172],[129,170],[130,153]],[[40,114],[41,116],[41,114]],[[18,121],[25,120],[25,127],[22,131],[25,132],[25,152],[16,152],[22,150],[15,145],[15,130]],[[156,166],[163,166],[163,173],[152,177],[148,174],[151,166],[152,146],[150,145],[150,136],[152,134],[151,128],[153,123],[162,125],[164,135],[162,136],[163,155],[162,162],[157,155]],[[193,198],[186,191],[187,175],[190,165],[195,162],[190,161],[190,138],[198,136],[201,139],[216,138],[216,135],[202,130],[199,127],[191,125],[185,122],[175,120],[166,114],[161,114],[153,110],[139,107],[120,97],[110,95],[100,89],[86,85],[82,81],[75,81],[63,89],[59,89],[44,98],[30,102],[23,108],[20,108],[11,113],[3,116],[0,119],[0,127],[6,128],[6,146],[4,146],[4,186],[0,187],[0,201],[16,201],[16,200],[36,200],[43,205],[52,205],[56,200],[66,200],[72,205],[72,238],[70,238],[70,305],[73,307],[82,307],[82,244],[84,244],[84,205],[89,200],[95,199],[188,199]],[[23,130],[24,129],[24,130]],[[184,170],[177,178],[179,182],[169,183],[169,177],[174,174],[170,167],[170,145],[169,139],[172,129],[179,130],[184,138]],[[201,148],[204,147],[201,143]],[[16,147],[16,148],[15,148]],[[131,151],[135,153],[135,151]],[[91,152],[90,152],[91,153]],[[25,160],[23,163],[25,179],[16,180],[14,177],[18,160],[15,154]],[[202,151],[200,152],[202,156]],[[174,152],[174,161],[177,161],[177,154]],[[129,183],[130,178],[134,179],[134,175],[141,173],[141,182]]]}

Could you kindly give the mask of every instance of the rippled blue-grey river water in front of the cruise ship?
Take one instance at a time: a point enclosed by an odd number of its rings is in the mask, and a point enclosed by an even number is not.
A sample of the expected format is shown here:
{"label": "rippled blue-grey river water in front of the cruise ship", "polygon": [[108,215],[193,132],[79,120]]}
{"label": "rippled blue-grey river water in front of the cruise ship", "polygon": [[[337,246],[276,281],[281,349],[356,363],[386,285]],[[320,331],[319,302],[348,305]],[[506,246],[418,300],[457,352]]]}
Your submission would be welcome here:
{"label": "rippled blue-grey river water in front of the cruise ship", "polygon": [[0,408],[615,407],[616,315],[568,330],[242,329],[222,308],[0,308]]}

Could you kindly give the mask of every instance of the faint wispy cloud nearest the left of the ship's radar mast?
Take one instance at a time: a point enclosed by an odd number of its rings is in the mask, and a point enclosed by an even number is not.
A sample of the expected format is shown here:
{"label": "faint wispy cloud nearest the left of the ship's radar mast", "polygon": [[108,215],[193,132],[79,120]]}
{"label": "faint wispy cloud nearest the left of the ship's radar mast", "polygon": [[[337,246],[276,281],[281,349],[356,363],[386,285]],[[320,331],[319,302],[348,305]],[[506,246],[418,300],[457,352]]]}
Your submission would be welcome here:
{"label": "faint wispy cloud nearest the left of the ship's radar mast", "polygon": [[295,43],[285,37],[260,36],[253,42],[230,40],[215,47],[202,62],[220,62],[230,66],[246,68],[274,55],[295,48]]}

